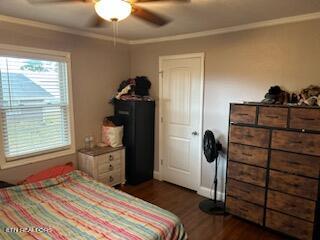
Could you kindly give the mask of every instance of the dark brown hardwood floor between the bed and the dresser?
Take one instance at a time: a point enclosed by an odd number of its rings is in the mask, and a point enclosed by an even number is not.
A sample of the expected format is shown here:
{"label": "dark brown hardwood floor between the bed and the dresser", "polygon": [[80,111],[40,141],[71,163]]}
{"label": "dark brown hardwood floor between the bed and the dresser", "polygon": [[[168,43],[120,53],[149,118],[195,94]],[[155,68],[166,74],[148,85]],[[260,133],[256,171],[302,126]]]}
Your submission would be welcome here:
{"label": "dark brown hardwood floor between the bed and the dresser", "polygon": [[283,236],[255,224],[228,216],[211,216],[201,212],[204,198],[194,191],[157,180],[121,190],[175,213],[182,221],[190,240],[280,240]]}

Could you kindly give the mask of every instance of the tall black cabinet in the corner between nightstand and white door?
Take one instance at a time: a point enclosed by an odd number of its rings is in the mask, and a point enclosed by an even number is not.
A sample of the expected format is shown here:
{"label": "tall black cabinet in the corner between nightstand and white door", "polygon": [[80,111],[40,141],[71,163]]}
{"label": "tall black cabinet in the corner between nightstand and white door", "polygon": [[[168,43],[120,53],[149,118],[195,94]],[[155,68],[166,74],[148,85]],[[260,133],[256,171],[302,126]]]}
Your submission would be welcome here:
{"label": "tall black cabinet in the corner between nightstand and white door", "polygon": [[114,106],[115,116],[124,126],[127,183],[134,185],[152,179],[155,102],[117,100]]}

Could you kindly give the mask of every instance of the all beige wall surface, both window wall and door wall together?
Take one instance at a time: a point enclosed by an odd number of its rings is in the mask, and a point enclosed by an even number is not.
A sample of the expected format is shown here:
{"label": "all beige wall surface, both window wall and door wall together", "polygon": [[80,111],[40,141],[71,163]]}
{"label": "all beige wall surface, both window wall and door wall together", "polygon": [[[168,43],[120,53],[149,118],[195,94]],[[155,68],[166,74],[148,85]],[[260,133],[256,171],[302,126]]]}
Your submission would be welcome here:
{"label": "all beige wall surface, both window wall and door wall together", "polygon": [[[153,83],[151,94],[157,98],[159,56],[204,52],[204,129],[213,130],[226,146],[229,102],[261,100],[274,84],[290,91],[320,84],[318,29],[320,20],[313,20],[180,41],[131,47],[118,44],[114,48],[107,41],[0,22],[0,43],[71,52],[77,148],[82,147],[84,136],[100,136],[101,120],[112,113],[107,101],[120,81],[129,75],[146,75]],[[158,135],[158,127],[156,132]],[[155,156],[157,170],[157,137]],[[71,155],[0,170],[0,179],[15,182],[75,159]],[[212,165],[203,160],[202,186],[211,185],[212,171]]]}

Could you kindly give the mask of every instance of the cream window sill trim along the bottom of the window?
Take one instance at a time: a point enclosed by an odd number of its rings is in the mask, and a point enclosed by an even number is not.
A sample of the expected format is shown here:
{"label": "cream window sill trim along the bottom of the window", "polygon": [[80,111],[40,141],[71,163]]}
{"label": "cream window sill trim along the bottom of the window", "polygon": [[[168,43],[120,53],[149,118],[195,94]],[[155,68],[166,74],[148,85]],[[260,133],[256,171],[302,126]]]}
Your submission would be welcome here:
{"label": "cream window sill trim along the bottom of the window", "polygon": [[51,153],[42,154],[34,157],[19,159],[11,162],[7,162],[5,161],[5,159],[1,159],[0,169],[9,169],[9,168],[24,166],[32,163],[43,162],[43,161],[51,160],[54,158],[71,155],[71,154],[74,154],[75,152],[76,152],[75,147],[72,146],[71,148],[66,150],[51,152]]}

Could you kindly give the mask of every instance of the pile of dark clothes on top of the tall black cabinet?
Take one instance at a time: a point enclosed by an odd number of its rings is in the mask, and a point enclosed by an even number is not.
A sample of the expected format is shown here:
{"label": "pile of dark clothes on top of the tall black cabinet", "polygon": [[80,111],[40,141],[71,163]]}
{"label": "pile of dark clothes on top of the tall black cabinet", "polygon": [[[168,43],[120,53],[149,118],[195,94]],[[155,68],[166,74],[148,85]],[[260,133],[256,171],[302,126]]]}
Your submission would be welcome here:
{"label": "pile of dark clothes on top of the tall black cabinet", "polygon": [[122,81],[118,88],[118,93],[111,99],[111,103],[115,100],[138,100],[138,101],[152,101],[149,96],[151,88],[150,80],[145,76],[137,76]]}

